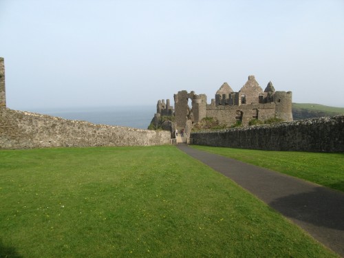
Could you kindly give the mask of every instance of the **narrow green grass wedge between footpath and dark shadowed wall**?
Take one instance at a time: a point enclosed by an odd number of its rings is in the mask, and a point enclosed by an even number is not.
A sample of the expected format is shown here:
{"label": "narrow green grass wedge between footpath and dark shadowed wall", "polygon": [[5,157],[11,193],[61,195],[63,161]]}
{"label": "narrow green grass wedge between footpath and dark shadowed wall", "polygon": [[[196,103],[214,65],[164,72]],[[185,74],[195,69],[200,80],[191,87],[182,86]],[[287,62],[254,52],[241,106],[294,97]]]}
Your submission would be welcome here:
{"label": "narrow green grass wedge between footpath and dark shadowed wall", "polygon": [[193,147],[344,191],[344,153]]}

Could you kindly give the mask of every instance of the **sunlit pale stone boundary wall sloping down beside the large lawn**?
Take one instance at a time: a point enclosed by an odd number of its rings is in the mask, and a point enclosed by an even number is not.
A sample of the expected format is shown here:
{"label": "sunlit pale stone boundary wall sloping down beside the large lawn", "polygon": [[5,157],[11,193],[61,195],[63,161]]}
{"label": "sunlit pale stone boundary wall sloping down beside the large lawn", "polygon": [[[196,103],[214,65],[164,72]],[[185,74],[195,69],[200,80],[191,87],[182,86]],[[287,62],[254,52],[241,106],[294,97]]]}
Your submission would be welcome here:
{"label": "sunlit pale stone boundary wall sloping down beside the large lawn", "polygon": [[0,108],[0,149],[169,144],[169,131],[95,125]]}

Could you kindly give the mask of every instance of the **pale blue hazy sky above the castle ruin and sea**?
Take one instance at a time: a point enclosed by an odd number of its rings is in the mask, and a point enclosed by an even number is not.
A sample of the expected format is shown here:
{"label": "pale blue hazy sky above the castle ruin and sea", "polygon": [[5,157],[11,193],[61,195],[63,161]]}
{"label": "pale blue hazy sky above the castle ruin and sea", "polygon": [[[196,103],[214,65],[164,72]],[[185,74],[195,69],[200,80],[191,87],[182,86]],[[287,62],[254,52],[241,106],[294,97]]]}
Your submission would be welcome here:
{"label": "pale blue hazy sky above the castle ruin and sea", "polygon": [[152,105],[235,92],[344,107],[343,0],[0,0],[7,105]]}

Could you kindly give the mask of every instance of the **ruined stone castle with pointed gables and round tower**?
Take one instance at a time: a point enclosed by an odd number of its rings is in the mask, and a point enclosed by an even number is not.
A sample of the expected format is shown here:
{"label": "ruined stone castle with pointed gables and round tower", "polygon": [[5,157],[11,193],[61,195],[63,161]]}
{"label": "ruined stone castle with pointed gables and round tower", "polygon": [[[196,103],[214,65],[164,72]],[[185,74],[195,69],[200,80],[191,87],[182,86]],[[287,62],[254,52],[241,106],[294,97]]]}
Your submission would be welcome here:
{"label": "ruined stone castle with pointed gables and round tower", "polygon": [[[189,107],[191,100],[191,107]],[[211,104],[207,104],[205,94],[195,94],[182,90],[174,95],[175,108],[169,105],[169,100],[159,100],[155,124],[161,116],[174,116],[175,128],[186,129],[190,132],[193,124],[202,118],[216,118],[221,124],[230,125],[241,122],[248,125],[252,119],[267,120],[281,118],[292,121],[292,92],[277,92],[271,82],[263,89],[255,80],[255,76],[248,76],[248,80],[239,92],[224,83],[215,94]]]}

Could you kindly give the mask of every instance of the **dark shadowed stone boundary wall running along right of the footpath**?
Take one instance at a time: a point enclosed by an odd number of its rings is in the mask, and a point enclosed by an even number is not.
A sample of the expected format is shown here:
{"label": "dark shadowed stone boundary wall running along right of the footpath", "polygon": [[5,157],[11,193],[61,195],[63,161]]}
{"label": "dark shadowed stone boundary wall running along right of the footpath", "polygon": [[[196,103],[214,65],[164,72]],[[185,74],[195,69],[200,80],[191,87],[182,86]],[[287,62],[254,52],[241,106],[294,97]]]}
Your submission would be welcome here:
{"label": "dark shadowed stone boundary wall running along right of the footpath", "polygon": [[268,151],[344,152],[344,116],[192,132],[193,144]]}

